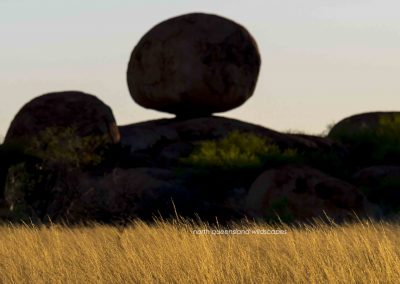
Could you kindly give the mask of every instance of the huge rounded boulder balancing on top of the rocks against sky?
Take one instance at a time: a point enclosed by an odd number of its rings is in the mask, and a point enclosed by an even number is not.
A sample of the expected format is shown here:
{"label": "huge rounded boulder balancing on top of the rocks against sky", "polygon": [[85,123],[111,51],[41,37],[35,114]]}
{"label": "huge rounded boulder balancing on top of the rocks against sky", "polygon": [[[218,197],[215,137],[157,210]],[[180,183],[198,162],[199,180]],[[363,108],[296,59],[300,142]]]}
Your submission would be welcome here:
{"label": "huge rounded boulder balancing on top of the rocks against sky", "polygon": [[153,27],[134,48],[127,71],[141,106],[178,116],[223,112],[256,86],[257,45],[242,26],[209,14],[187,14]]}

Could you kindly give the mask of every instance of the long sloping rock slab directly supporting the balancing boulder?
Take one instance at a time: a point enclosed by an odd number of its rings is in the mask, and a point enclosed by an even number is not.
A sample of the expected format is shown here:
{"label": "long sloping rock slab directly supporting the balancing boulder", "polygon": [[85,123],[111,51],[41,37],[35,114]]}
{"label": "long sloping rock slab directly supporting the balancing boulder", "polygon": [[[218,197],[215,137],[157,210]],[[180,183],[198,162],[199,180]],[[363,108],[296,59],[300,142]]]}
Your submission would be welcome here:
{"label": "long sloping rock slab directly supporting the balancing boulder", "polygon": [[344,150],[330,139],[280,133],[259,125],[224,117],[161,119],[119,127],[123,156],[130,166],[171,166],[190,154],[197,141],[224,138],[233,131],[252,133],[279,147],[301,151]]}

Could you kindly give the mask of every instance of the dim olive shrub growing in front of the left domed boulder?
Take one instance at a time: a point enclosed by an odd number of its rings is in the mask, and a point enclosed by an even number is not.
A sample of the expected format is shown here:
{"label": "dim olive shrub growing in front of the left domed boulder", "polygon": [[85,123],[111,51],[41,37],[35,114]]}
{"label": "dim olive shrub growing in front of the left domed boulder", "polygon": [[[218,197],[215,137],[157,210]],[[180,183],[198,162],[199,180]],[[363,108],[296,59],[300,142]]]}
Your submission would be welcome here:
{"label": "dim olive shrub growing in front of the left domed boulder", "polygon": [[[71,176],[103,161],[106,137],[81,137],[72,127],[47,128],[23,145],[26,156],[7,168],[5,197],[16,220],[43,219],[57,198],[70,200],[76,192]],[[17,142],[16,142],[17,143]]]}

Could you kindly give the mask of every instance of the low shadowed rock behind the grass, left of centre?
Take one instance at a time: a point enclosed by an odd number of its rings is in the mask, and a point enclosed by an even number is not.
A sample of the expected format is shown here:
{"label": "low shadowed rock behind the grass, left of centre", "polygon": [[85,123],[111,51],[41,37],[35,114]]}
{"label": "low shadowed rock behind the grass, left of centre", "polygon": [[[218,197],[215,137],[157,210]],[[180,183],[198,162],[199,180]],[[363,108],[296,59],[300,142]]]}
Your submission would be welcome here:
{"label": "low shadowed rock behind the grass, left of centre", "polygon": [[[79,196],[60,214],[70,221],[115,221],[140,217],[168,217],[187,213],[190,197],[169,170],[157,168],[114,169],[99,177],[82,175]],[[174,208],[175,205],[175,208]],[[56,208],[57,205],[55,204]]]}

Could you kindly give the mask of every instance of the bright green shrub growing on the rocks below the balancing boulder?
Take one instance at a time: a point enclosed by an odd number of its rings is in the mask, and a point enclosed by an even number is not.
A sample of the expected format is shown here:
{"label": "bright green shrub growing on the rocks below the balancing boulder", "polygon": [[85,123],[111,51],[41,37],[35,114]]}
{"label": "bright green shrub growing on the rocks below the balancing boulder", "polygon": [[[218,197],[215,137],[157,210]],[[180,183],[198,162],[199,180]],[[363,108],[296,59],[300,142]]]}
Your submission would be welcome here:
{"label": "bright green shrub growing on the rocks below the balancing boulder", "polygon": [[232,170],[287,163],[296,157],[294,149],[281,150],[258,135],[233,131],[222,139],[198,142],[182,162],[196,168]]}

